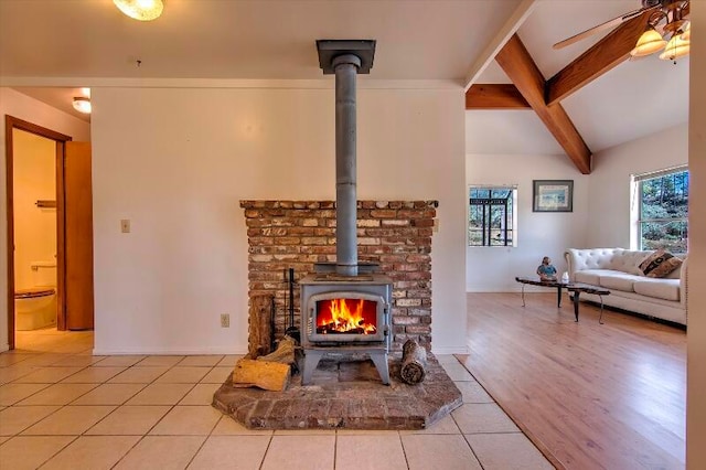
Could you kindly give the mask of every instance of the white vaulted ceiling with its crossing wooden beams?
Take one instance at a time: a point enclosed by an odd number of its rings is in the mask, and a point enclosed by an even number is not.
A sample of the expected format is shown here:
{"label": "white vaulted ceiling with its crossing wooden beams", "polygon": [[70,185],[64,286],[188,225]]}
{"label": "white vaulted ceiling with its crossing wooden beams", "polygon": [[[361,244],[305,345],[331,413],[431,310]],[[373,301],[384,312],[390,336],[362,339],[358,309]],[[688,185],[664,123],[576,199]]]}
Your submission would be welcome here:
{"label": "white vaulted ceiling with its crossing wooden beams", "polygon": [[[639,1],[537,2],[467,94],[467,150],[567,154],[587,173],[587,150],[592,154],[686,122],[689,58],[676,64],[656,55],[629,60],[644,17],[552,49],[637,8]],[[500,132],[514,138],[489,137]]]}

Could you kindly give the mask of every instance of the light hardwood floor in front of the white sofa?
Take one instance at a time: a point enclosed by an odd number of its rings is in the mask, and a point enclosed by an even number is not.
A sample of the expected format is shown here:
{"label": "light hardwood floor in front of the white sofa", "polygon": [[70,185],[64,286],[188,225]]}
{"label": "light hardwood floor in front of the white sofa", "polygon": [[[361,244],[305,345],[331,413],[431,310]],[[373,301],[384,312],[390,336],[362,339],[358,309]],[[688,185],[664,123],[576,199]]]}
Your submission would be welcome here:
{"label": "light hardwood floor in front of the white sofa", "polygon": [[558,468],[683,469],[686,333],[556,293],[469,293],[466,367]]}

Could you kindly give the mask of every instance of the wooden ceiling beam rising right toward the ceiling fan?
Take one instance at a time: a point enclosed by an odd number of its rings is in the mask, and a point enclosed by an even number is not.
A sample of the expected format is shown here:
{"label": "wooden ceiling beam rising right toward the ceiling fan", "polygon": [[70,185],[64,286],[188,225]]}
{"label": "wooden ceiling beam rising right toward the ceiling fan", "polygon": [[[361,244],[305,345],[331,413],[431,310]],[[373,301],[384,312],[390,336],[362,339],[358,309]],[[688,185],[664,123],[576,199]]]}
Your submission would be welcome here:
{"label": "wooden ceiling beam rising right toward the ceiling fan", "polygon": [[630,57],[630,51],[644,32],[648,18],[652,12],[650,10],[625,21],[549,78],[546,86],[547,105],[557,105],[574,92],[627,61]]}

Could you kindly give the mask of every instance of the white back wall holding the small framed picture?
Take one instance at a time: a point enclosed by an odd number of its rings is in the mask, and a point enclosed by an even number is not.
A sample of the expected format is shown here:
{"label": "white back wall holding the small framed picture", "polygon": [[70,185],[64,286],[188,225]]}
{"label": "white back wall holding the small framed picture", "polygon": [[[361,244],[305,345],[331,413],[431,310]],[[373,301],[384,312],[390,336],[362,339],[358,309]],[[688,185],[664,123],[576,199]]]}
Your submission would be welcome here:
{"label": "white back wall holding the small framed picture", "polygon": [[[574,212],[532,212],[533,180],[574,180]],[[520,289],[515,276],[536,276],[543,256],[558,273],[564,250],[586,243],[588,177],[564,156],[468,154],[467,184],[517,184],[517,246],[466,247],[466,289],[507,292]],[[468,201],[468,190],[466,194]],[[464,202],[466,202],[464,201]]]}

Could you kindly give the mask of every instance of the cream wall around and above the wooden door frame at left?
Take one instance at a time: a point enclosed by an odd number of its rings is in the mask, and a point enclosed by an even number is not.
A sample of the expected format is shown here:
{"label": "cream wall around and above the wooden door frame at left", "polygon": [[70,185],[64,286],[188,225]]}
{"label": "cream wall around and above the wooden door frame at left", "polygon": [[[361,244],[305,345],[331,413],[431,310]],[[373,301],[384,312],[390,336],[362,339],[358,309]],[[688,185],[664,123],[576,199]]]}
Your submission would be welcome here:
{"label": "cream wall around and above the wooden door frame at left", "polygon": [[[41,102],[22,95],[11,88],[0,87],[0,116],[9,115],[38,126],[73,137],[74,140],[90,140],[90,125],[62,113]],[[8,349],[8,225],[7,225],[7,186],[6,186],[6,148],[4,126],[0,126],[0,351]]]}

